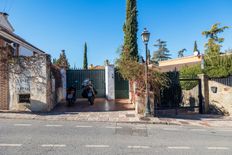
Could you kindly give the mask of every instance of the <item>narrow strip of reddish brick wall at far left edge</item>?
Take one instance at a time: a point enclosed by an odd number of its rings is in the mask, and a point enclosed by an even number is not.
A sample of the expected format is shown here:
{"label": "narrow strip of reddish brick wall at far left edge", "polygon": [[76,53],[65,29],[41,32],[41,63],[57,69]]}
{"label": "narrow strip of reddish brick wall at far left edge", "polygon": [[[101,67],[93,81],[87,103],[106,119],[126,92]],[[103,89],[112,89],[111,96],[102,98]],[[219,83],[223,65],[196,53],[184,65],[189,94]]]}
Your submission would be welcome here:
{"label": "narrow strip of reddish brick wall at far left edge", "polygon": [[7,49],[3,47],[4,40],[0,39],[0,110],[8,110],[9,85]]}

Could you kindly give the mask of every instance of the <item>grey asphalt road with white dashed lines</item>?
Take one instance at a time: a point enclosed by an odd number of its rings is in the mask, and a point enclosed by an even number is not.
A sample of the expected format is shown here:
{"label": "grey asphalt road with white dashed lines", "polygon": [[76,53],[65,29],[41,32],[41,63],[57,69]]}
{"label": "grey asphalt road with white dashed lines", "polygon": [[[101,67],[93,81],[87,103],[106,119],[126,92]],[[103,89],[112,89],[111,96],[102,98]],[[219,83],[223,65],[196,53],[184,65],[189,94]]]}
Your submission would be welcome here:
{"label": "grey asphalt road with white dashed lines", "polygon": [[232,129],[0,119],[0,155],[231,155]]}

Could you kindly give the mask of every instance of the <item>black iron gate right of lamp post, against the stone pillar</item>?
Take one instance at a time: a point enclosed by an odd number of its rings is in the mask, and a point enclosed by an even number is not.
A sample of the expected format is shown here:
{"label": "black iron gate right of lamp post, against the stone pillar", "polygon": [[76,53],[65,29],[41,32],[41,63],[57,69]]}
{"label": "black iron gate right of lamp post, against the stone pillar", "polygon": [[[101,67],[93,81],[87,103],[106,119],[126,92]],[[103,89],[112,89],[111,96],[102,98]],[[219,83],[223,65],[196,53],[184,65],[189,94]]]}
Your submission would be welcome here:
{"label": "black iron gate right of lamp post, against the stone pillar", "polygon": [[[160,91],[157,110],[174,109],[176,112],[202,113],[201,80],[197,78],[180,79],[178,73],[168,73],[169,87]],[[184,89],[186,86],[187,89]]]}

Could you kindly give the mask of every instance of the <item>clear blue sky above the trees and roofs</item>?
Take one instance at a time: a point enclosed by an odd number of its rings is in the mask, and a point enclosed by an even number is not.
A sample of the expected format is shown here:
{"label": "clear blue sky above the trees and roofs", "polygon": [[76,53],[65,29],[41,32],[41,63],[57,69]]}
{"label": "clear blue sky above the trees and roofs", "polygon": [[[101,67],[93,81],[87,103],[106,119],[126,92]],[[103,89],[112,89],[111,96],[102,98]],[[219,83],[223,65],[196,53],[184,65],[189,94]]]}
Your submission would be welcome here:
{"label": "clear blue sky above the trees and roofs", "polygon": [[[232,0],[137,0],[138,45],[144,27],[151,32],[149,49],[155,40],[167,41],[172,57],[186,48],[191,55],[194,41],[202,51],[207,41],[201,32],[212,24],[232,26]],[[126,0],[0,0],[0,11],[9,13],[15,33],[57,58],[62,49],[73,66],[82,67],[84,42],[88,62],[114,62],[123,43]],[[223,35],[223,49],[232,48],[232,28]]]}

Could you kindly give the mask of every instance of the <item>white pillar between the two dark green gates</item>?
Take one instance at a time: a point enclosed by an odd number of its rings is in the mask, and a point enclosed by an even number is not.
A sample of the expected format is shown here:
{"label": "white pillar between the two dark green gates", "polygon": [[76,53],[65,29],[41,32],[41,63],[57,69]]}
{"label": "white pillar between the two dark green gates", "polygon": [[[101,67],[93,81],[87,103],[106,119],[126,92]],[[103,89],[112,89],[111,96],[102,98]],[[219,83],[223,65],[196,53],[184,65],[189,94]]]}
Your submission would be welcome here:
{"label": "white pillar between the two dark green gates", "polygon": [[114,79],[114,66],[107,65],[105,67],[105,80],[106,80],[106,98],[108,100],[115,99],[115,79]]}

